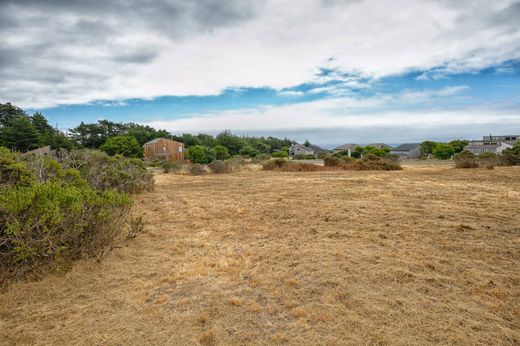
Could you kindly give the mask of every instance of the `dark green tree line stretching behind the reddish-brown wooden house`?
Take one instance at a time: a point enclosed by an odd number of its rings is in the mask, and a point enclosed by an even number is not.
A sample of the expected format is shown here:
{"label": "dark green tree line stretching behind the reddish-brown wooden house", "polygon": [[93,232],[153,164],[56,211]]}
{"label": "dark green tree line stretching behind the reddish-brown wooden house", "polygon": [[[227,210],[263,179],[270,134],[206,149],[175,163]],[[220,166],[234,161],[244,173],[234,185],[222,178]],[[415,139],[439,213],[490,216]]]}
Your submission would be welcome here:
{"label": "dark green tree line stretching behind the reddish-brown wooden house", "polygon": [[261,154],[286,153],[295,143],[275,137],[237,136],[229,130],[216,136],[199,133],[172,135],[147,125],[132,122],[98,120],[81,122],[66,135],[52,127],[41,113],[28,115],[10,103],[0,104],[0,146],[25,152],[50,145],[53,149],[100,149],[109,155],[142,157],[142,145],[155,138],[168,138],[184,143],[187,156],[196,163],[225,160],[235,155],[255,157]]}

